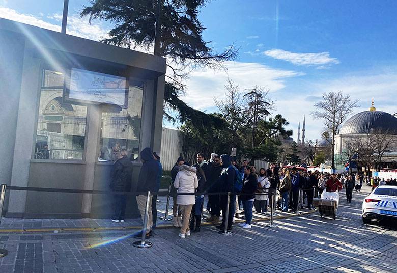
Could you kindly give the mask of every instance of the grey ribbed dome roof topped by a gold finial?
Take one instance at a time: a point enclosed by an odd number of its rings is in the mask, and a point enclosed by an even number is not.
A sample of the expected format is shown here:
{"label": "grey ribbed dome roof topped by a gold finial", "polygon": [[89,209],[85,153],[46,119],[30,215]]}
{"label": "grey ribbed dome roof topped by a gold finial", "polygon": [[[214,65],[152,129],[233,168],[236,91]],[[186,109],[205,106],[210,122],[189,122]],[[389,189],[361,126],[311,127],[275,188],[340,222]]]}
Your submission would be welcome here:
{"label": "grey ribbed dome roof topped by a gold finial", "polygon": [[397,118],[382,111],[364,111],[348,119],[340,134],[366,134],[371,129],[387,134],[397,134]]}

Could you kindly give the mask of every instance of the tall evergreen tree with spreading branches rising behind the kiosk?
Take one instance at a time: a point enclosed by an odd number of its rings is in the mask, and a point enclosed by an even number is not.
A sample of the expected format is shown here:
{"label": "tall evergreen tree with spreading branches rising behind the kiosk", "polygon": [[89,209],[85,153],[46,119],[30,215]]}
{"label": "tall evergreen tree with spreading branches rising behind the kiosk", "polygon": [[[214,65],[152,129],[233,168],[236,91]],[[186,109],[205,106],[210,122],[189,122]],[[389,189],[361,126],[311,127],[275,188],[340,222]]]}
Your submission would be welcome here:
{"label": "tall evergreen tree with spreading branches rising behind the kiosk", "polygon": [[180,122],[190,121],[196,127],[214,124],[219,117],[197,111],[179,97],[184,94],[183,79],[189,69],[196,67],[222,68],[222,63],[234,60],[238,50],[234,45],[223,52],[214,52],[208,41],[203,40],[205,27],[198,20],[198,13],[205,0],[91,0],[91,5],[81,11],[81,16],[110,21],[115,28],[102,42],[142,48],[157,56],[167,58],[172,76],[165,84],[164,116],[176,121],[166,110],[179,113]]}

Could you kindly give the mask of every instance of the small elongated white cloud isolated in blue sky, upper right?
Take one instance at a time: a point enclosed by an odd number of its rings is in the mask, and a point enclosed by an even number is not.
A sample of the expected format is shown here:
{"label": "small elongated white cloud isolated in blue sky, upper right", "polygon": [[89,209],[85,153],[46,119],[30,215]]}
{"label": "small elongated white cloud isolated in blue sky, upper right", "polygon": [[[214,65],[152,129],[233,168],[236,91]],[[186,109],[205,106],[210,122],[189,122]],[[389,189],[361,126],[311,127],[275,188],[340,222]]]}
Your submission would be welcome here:
{"label": "small elongated white cloud isolated in blue sky, upper right", "polygon": [[326,65],[339,63],[338,59],[331,58],[329,56],[329,52],[294,53],[282,49],[270,49],[264,51],[263,54],[277,60],[290,62],[295,65],[322,66],[321,68],[326,68]]}

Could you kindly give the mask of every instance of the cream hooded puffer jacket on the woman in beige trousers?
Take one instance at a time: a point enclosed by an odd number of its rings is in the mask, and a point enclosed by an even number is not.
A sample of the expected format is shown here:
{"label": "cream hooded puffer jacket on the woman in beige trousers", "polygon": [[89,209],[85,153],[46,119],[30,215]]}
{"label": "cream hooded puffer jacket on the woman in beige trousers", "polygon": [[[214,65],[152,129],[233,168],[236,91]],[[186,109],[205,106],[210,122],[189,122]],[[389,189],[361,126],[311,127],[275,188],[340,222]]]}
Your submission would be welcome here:
{"label": "cream hooded puffer jacket on the woman in beige trousers", "polygon": [[[177,193],[194,193],[194,189],[198,187],[196,171],[196,168],[187,165],[179,167],[179,172],[174,181],[174,187],[178,188]],[[194,205],[194,195],[178,195],[177,204]]]}

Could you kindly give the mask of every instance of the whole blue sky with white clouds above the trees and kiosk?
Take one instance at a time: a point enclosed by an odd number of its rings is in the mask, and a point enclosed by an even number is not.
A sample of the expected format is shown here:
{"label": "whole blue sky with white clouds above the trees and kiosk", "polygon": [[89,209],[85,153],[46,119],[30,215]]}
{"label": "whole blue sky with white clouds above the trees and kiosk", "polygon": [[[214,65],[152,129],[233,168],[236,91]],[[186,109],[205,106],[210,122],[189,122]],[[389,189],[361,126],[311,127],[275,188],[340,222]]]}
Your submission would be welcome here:
{"label": "whole blue sky with white clouds above the trees and kiosk", "polygon": [[[78,18],[87,0],[69,2],[69,34],[96,40],[111,28]],[[58,30],[62,8],[61,0],[0,0],[0,17]],[[228,71],[194,71],[185,100],[211,112],[228,76],[241,89],[264,86],[295,138],[306,116],[310,139],[320,138],[323,123],[310,112],[323,92],[360,99],[354,113],[367,110],[372,97],[378,110],[395,113],[396,11],[397,1],[212,1],[200,14],[205,40],[217,50],[234,42],[240,55]]]}

